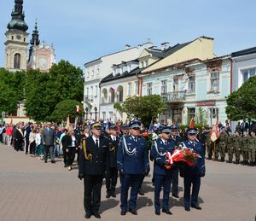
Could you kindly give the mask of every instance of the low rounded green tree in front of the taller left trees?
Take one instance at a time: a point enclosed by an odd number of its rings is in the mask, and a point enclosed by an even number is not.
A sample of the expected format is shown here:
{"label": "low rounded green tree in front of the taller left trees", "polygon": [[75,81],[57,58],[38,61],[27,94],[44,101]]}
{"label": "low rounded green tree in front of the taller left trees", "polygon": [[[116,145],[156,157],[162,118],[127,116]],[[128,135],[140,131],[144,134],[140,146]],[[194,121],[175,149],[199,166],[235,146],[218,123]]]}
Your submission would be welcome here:
{"label": "low rounded green tree in front of the taller left trees", "polygon": [[83,109],[81,103],[75,100],[65,100],[59,102],[55,106],[54,112],[51,113],[51,115],[49,116],[49,120],[61,123],[61,120],[66,120],[67,116],[69,115],[70,122],[74,122],[74,119],[76,117],[82,117],[84,115],[84,112],[77,112],[77,105],[79,105],[80,108]]}

